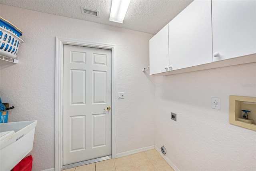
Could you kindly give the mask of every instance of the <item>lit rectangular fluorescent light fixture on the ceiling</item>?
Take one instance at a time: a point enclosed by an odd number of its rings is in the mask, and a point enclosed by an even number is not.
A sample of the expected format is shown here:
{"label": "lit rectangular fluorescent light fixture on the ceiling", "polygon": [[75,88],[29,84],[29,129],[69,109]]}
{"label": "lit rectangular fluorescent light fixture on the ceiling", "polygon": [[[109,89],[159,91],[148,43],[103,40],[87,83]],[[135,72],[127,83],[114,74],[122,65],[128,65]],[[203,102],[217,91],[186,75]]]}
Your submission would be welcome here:
{"label": "lit rectangular fluorescent light fixture on the ceiling", "polygon": [[130,1],[131,0],[112,0],[109,20],[123,23]]}

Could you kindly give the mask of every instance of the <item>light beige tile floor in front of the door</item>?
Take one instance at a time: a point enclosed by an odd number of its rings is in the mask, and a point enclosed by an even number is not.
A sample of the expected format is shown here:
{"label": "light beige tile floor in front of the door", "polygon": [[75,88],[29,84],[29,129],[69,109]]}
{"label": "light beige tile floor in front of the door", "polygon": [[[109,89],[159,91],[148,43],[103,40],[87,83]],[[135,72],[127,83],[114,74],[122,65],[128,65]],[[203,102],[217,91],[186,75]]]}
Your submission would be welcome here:
{"label": "light beige tile floor in front of the door", "polygon": [[82,165],[64,171],[174,171],[155,150]]}

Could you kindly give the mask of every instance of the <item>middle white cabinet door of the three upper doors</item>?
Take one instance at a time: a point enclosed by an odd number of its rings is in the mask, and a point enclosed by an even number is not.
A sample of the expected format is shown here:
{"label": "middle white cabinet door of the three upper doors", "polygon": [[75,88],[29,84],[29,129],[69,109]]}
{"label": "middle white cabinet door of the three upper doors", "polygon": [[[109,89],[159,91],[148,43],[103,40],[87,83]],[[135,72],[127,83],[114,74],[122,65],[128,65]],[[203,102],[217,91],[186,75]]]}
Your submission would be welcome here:
{"label": "middle white cabinet door of the three upper doors", "polygon": [[211,1],[195,0],[169,23],[172,70],[212,62]]}

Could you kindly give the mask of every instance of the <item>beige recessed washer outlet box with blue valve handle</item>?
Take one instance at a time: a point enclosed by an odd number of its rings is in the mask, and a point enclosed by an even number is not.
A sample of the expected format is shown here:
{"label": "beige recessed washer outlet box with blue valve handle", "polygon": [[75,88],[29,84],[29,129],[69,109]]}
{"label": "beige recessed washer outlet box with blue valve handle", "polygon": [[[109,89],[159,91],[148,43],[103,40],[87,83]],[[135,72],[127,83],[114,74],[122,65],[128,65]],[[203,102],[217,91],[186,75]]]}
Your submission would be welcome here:
{"label": "beige recessed washer outlet box with blue valve handle", "polygon": [[[244,111],[248,119],[244,119]],[[229,96],[229,123],[256,131],[256,97]]]}

